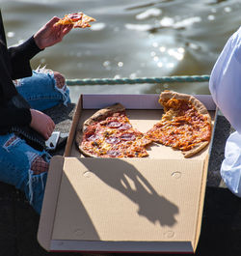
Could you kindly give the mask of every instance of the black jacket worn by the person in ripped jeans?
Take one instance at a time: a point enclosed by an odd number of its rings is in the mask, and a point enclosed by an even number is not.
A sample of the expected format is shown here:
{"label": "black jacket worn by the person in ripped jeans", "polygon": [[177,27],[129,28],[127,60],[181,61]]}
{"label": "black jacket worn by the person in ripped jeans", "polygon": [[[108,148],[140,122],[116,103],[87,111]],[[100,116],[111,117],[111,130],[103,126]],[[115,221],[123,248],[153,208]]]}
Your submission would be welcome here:
{"label": "black jacket worn by the person in ripped jeans", "polygon": [[33,37],[8,49],[0,10],[0,134],[12,126],[31,123],[30,109],[10,107],[8,101],[17,94],[13,79],[32,75],[30,59],[38,52],[40,48]]}

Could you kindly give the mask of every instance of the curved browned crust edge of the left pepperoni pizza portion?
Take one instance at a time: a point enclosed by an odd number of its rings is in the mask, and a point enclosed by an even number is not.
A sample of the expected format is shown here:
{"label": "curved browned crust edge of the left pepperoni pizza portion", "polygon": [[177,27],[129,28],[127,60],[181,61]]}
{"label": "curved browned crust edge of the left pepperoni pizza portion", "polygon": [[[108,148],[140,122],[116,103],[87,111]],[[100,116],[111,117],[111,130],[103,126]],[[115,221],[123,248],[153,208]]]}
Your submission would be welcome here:
{"label": "curved browned crust edge of the left pepperoni pizza portion", "polygon": [[82,142],[82,138],[83,138],[83,133],[84,131],[90,127],[91,125],[93,125],[95,122],[104,120],[106,117],[116,113],[116,112],[122,112],[125,111],[125,107],[123,105],[121,105],[120,103],[115,103],[113,105],[107,106],[105,108],[101,108],[98,111],[96,111],[94,113],[94,115],[92,115],[90,118],[88,118],[84,124],[79,124],[78,128],[76,130],[76,134],[75,134],[75,142],[76,145],[78,147],[78,149],[80,150],[80,152],[84,155],[84,156],[90,156],[90,157],[97,157],[94,156],[88,152],[86,152],[82,147],[81,147],[81,142]]}

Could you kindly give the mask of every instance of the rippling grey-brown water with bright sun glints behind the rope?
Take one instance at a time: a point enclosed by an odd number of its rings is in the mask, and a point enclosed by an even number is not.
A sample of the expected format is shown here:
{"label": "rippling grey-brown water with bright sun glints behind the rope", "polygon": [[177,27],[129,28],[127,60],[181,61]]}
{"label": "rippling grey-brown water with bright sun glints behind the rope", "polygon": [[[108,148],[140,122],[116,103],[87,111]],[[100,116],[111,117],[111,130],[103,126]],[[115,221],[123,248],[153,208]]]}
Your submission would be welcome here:
{"label": "rippling grey-brown water with bright sun glints behind the rope", "polygon": [[[0,0],[9,45],[32,36],[52,16],[82,11],[96,22],[74,29],[40,52],[45,66],[71,78],[160,77],[209,74],[228,37],[241,24],[237,0]],[[71,86],[80,93],[140,94],[172,89],[209,94],[208,84]]]}

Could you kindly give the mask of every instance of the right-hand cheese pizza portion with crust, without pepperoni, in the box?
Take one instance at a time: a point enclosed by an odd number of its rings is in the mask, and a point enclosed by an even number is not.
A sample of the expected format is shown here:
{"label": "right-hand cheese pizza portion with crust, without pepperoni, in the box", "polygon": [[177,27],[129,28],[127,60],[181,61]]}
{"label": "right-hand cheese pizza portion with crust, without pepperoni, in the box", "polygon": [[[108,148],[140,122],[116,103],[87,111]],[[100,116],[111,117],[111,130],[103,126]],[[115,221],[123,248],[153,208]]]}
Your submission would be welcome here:
{"label": "right-hand cheese pizza portion with crust, without pepperoni, in the box", "polygon": [[164,114],[147,138],[175,150],[184,157],[194,156],[206,147],[211,139],[212,123],[206,107],[191,95],[165,91],[159,102]]}

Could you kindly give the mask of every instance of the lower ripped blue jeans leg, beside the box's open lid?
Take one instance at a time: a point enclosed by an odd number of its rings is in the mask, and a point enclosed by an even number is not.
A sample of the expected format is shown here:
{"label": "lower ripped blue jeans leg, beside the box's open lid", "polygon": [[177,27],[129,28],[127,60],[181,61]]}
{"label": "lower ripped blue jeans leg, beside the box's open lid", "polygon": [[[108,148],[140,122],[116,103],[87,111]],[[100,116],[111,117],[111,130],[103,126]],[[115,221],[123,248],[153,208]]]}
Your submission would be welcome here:
{"label": "lower ripped blue jeans leg, beside the box's open lid", "polygon": [[0,136],[0,181],[24,191],[37,213],[40,213],[47,178],[47,172],[34,174],[31,170],[32,162],[39,156],[50,161],[51,156],[46,152],[36,151],[14,133]]}

